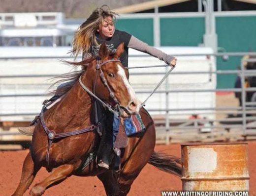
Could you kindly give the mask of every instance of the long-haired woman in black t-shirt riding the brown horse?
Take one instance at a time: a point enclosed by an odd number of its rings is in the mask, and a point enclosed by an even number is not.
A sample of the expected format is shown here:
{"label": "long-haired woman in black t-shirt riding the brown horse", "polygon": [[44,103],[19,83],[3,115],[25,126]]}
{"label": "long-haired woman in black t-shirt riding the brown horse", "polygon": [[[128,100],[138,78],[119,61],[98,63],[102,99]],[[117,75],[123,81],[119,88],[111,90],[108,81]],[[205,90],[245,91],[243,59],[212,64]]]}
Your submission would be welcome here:
{"label": "long-haired woman in black t-shirt riding the brown horse", "polygon": [[[72,54],[77,57],[77,55],[82,52],[83,59],[85,59],[92,55],[98,55],[99,46],[102,43],[105,43],[111,52],[115,52],[117,47],[121,43],[124,43],[125,50],[121,55],[120,60],[125,68],[128,68],[128,48],[148,53],[159,58],[168,65],[176,65],[177,59],[175,57],[170,56],[159,49],[148,46],[146,43],[125,31],[115,29],[116,15],[117,14],[111,11],[106,5],[95,9],[89,18],[80,25],[78,30],[75,32],[72,44],[73,49],[71,50]],[[62,85],[65,85],[65,83]],[[60,95],[56,95],[55,97],[60,97]],[[109,168],[109,154],[118,133],[120,122],[118,117],[113,115],[108,116],[110,116],[108,117],[108,121],[110,121],[110,123],[107,123],[109,124],[109,126],[107,126],[107,130],[112,130],[112,136],[111,138],[108,137],[108,139],[104,141],[104,152],[101,153],[102,157],[98,163],[100,167],[104,167],[106,169]],[[33,122],[31,126],[20,127],[19,130],[23,134],[32,135],[34,126]]]}

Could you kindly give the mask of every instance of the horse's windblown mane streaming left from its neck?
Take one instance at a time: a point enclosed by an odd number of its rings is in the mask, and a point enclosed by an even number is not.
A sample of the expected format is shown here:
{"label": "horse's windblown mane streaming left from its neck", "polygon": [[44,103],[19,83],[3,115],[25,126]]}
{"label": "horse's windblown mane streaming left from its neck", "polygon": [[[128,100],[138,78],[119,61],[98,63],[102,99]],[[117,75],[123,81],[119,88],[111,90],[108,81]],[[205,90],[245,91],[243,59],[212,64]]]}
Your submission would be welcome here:
{"label": "horse's windblown mane streaming left from its neck", "polygon": [[[108,55],[113,58],[115,53],[110,52]],[[90,64],[97,57],[98,56],[92,56],[92,57],[86,58],[85,60],[82,60],[80,62],[71,62],[71,61],[61,60],[66,65],[70,65],[73,67],[82,66],[82,70],[64,73],[64,74],[61,74],[59,76],[52,78],[52,79],[57,79],[57,81],[54,82],[49,87],[49,89],[52,88],[53,86],[55,86],[56,84],[64,84],[67,82],[68,83],[65,85],[59,85],[57,89],[50,91],[48,93],[48,95],[60,95],[61,96],[61,95],[66,94],[74,86],[74,84],[78,81],[79,77],[86,71],[88,64]]]}

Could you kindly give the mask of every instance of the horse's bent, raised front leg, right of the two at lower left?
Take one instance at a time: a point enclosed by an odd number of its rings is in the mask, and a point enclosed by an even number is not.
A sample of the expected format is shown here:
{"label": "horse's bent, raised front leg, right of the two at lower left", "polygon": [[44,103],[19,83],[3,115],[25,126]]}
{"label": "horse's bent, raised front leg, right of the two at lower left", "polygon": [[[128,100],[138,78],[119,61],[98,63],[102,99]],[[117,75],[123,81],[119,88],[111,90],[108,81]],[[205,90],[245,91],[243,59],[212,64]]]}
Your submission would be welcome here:
{"label": "horse's bent, raised front leg, right of the two at lower left", "polygon": [[41,196],[45,190],[51,185],[62,182],[66,177],[70,176],[74,171],[73,165],[61,165],[56,168],[51,174],[43,181],[34,185],[30,191],[31,196]]}

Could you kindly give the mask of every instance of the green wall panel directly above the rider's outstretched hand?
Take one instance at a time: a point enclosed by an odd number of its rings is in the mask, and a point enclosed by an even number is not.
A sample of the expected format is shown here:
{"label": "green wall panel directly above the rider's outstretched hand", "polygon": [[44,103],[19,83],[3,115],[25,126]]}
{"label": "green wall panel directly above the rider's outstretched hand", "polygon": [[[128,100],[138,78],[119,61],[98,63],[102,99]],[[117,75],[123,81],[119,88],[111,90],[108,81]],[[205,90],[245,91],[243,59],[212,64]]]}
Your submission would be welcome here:
{"label": "green wall panel directly above the rider's outstretched hand", "polygon": [[161,18],[161,46],[198,46],[203,43],[204,18]]}

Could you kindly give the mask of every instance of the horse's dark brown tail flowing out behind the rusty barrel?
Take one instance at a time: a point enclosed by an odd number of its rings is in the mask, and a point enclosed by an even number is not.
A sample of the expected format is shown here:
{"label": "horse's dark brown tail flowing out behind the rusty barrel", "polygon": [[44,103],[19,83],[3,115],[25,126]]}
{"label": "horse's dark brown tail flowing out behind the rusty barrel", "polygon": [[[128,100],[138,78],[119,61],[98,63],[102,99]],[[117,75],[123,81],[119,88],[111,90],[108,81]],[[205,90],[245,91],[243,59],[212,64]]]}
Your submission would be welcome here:
{"label": "horse's dark brown tail flowing out behind the rusty barrel", "polygon": [[181,159],[162,152],[153,152],[148,163],[163,172],[181,177]]}

